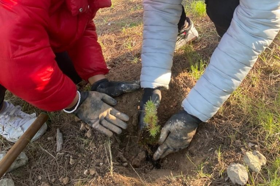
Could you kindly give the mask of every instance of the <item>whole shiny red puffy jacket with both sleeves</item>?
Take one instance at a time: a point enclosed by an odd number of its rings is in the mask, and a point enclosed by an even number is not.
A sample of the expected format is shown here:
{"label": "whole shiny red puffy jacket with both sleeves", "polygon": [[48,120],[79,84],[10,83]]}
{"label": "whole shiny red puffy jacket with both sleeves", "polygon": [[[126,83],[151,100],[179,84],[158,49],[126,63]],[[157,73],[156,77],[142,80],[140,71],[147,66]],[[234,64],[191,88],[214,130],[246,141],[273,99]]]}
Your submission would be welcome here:
{"label": "whole shiny red puffy jacket with both sleeves", "polygon": [[110,0],[0,0],[0,84],[47,111],[67,107],[76,86],[58,68],[68,51],[85,80],[108,69],[92,21]]}

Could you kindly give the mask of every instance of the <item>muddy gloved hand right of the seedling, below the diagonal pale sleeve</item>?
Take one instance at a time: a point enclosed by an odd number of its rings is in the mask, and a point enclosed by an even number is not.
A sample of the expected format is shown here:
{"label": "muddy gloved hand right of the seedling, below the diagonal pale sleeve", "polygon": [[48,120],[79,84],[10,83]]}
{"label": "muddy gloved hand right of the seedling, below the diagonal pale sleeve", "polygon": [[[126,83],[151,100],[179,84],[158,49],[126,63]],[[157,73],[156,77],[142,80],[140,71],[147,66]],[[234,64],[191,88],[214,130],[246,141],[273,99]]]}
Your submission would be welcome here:
{"label": "muddy gloved hand right of the seedling, below the diagonal pale sleeve", "polygon": [[159,139],[159,144],[161,145],[153,156],[154,160],[166,157],[168,154],[175,153],[180,149],[187,148],[200,123],[202,121],[184,110],[170,117],[161,129]]}

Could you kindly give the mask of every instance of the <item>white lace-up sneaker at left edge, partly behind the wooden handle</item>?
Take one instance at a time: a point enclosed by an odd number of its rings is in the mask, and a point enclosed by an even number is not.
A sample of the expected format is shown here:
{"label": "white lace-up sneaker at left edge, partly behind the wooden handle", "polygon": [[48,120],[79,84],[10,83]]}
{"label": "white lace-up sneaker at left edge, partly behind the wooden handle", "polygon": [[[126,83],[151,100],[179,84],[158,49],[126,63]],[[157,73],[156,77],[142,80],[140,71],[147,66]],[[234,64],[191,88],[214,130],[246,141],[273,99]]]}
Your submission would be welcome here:
{"label": "white lace-up sneaker at left edge, partly behind the wooden handle", "polygon": [[[0,113],[0,135],[8,141],[16,143],[28,127],[35,121],[36,114],[26,114],[21,111],[20,106],[14,106],[7,101],[4,102],[4,105],[5,104],[6,108]],[[44,123],[31,141],[39,139],[46,129],[47,124]]]}

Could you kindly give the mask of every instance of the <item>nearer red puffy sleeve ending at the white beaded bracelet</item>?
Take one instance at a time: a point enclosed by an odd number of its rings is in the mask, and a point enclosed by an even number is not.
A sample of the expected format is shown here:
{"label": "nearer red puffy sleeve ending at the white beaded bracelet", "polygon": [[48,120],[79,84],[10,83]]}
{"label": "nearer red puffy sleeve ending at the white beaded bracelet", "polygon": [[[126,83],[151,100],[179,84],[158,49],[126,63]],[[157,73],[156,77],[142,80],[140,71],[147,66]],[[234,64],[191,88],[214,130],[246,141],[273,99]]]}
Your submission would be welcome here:
{"label": "nearer red puffy sleeve ending at the white beaded bracelet", "polygon": [[48,12],[33,6],[0,8],[0,84],[38,108],[61,110],[73,101],[76,86],[54,60],[44,29]]}

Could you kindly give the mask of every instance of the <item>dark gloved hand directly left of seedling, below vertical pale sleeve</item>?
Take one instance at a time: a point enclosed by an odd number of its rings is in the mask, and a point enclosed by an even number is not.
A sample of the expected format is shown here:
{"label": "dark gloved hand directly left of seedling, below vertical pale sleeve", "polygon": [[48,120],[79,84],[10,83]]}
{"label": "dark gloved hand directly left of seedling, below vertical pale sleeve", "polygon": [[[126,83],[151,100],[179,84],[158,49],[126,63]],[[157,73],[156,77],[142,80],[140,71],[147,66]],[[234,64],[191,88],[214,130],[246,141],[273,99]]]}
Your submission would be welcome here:
{"label": "dark gloved hand directly left of seedling, below vertical pale sleeve", "polygon": [[149,100],[152,100],[156,105],[156,108],[158,108],[161,101],[161,91],[159,90],[159,88],[144,88],[144,94],[140,102],[140,116],[138,123],[140,130],[142,130],[146,126],[146,124],[143,122],[143,118],[145,117],[144,105]]}

